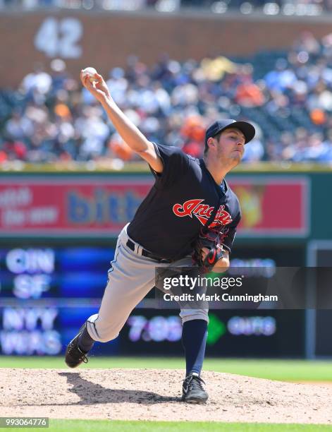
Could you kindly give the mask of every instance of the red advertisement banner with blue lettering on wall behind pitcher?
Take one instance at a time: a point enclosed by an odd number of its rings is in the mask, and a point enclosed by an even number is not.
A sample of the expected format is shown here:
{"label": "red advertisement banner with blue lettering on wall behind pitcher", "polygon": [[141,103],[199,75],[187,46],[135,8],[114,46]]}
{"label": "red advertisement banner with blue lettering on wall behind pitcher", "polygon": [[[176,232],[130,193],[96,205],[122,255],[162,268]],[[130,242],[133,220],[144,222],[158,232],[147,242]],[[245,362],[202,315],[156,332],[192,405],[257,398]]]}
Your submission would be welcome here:
{"label": "red advertisement banner with blue lettering on wall behind pitcher", "polygon": [[[153,184],[152,176],[8,177],[0,179],[1,236],[117,236]],[[306,236],[305,178],[232,177],[241,236]]]}

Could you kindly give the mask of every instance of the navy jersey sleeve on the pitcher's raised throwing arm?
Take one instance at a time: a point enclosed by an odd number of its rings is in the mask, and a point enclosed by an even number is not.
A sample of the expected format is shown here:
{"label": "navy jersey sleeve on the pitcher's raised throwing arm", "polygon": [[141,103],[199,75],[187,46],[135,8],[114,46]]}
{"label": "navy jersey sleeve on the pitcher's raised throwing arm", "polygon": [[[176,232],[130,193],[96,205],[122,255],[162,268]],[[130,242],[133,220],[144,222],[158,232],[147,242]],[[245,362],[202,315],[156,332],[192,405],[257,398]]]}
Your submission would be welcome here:
{"label": "navy jersey sleeve on the pitcher's raised throwing arm", "polygon": [[154,144],[156,154],[160,157],[163,163],[163,172],[156,173],[150,167],[154,178],[156,179],[156,188],[166,188],[176,183],[180,177],[187,172],[189,159],[187,155],[178,147],[171,145]]}

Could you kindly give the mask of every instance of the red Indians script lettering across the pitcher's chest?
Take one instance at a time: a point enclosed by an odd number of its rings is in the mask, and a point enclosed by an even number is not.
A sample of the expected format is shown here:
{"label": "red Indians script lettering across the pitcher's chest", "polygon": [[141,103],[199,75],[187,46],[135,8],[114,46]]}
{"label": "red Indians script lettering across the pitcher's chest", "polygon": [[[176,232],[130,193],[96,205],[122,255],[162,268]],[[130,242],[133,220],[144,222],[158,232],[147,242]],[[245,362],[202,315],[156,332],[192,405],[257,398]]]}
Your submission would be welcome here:
{"label": "red Indians script lettering across the pitcher's chest", "polygon": [[[201,222],[202,225],[207,223],[207,220],[211,216],[214,207],[210,207],[208,204],[202,204],[204,200],[188,200],[181,204],[173,205],[173,213],[178,217],[195,216]],[[216,212],[214,222],[209,226],[210,228],[216,227],[216,225],[227,225],[232,222],[232,217],[225,210],[225,205],[221,205],[219,210]]]}

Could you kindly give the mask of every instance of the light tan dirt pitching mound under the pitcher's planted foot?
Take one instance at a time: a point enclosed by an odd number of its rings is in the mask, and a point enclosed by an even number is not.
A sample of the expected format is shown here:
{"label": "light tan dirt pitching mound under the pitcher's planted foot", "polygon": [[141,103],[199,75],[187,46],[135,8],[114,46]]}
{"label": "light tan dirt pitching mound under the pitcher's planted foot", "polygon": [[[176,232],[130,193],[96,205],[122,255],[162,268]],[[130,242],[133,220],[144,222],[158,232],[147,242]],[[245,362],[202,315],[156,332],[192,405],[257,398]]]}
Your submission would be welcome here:
{"label": "light tan dirt pitching mound under the pitcher's planted foot", "polygon": [[332,388],[204,371],[206,405],[180,402],[183,371],[0,368],[1,416],[332,423]]}

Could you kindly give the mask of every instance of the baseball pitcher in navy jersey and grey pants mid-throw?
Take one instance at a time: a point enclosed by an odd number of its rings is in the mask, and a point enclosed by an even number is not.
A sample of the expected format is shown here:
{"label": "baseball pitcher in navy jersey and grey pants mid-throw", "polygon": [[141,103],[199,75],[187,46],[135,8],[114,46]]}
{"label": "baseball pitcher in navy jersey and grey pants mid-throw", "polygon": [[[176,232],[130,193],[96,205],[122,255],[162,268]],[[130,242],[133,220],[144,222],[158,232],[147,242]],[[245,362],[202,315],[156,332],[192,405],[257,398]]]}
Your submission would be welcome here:
{"label": "baseball pitcher in navy jersey and grey pants mid-throw", "polygon": [[[207,128],[204,157],[197,160],[179,148],[152,143],[113,101],[99,73],[94,80],[81,71],[82,84],[102,104],[116,131],[149,164],[154,186],[123,227],[116,244],[102,304],[87,318],[66,349],[66,364],[75,368],[95,341],[118,336],[130,312],[154,287],[154,269],[190,266],[205,271],[229,266],[229,253],[240,221],[240,205],[225,176],[236,167],[254,126],[233,119]],[[204,403],[207,390],[200,374],[207,341],[206,308],[182,309],[186,373],[183,401]]]}

